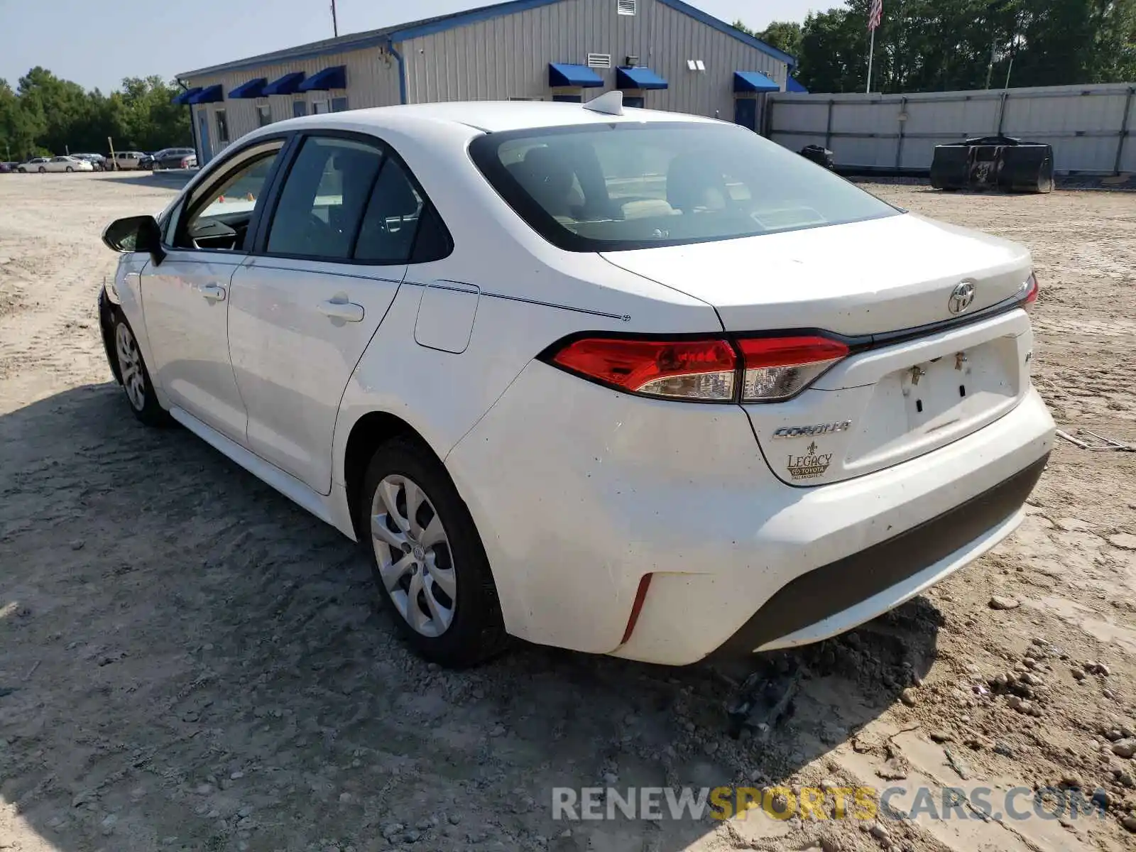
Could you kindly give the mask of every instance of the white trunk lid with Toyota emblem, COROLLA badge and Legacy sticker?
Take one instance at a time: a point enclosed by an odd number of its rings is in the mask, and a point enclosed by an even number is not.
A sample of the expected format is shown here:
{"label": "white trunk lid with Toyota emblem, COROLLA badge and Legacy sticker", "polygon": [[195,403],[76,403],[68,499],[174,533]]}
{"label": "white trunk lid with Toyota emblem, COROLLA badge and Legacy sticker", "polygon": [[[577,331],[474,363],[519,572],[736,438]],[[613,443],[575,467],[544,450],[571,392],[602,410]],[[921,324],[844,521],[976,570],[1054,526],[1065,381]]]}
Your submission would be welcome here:
{"label": "white trunk lid with Toyota emblem, COROLLA badge and Legacy sticker", "polygon": [[[1029,252],[997,237],[905,215],[604,257],[709,302],[728,332],[819,329],[872,344],[794,399],[743,404],[770,469],[791,485],[930,452],[999,419],[1029,390],[1033,333],[1022,310],[884,345],[888,333],[1024,296]],[[955,312],[951,296],[963,281],[974,300]]]}

